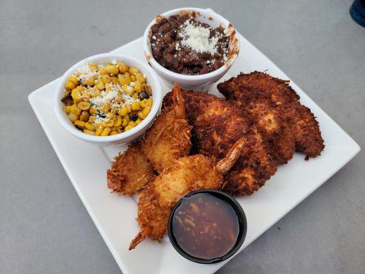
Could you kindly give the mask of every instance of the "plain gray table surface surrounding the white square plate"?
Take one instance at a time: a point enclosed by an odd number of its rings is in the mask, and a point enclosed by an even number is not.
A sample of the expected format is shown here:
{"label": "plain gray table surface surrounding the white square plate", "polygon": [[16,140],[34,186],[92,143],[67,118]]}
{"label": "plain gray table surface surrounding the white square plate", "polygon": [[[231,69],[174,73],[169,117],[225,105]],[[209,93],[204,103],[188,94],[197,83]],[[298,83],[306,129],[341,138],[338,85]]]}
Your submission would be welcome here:
{"label": "plain gray table surface surrounding the white square plate", "polygon": [[[0,273],[120,273],[30,108],[30,92],[88,55],[140,37],[160,12],[210,7],[365,147],[365,28],[352,21],[350,4],[1,0]],[[218,273],[364,273],[364,166],[360,152]]]}

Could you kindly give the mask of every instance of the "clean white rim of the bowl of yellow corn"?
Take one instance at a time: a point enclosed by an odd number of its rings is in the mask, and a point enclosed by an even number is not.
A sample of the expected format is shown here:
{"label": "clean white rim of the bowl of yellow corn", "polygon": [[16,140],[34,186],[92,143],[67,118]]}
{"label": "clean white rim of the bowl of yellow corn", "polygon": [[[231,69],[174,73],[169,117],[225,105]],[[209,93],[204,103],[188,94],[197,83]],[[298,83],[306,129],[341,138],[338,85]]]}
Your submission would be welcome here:
{"label": "clean white rim of the bowl of yellow corn", "polygon": [[[64,82],[65,79],[72,75],[72,73],[79,68],[79,66],[82,66],[84,64],[87,64],[88,62],[103,62],[99,61],[104,58],[116,58],[123,60],[123,62],[134,62],[135,66],[138,67],[141,71],[148,71],[153,78],[153,82],[155,82],[155,88],[153,90],[153,104],[151,108],[151,112],[147,115],[146,119],[144,119],[140,124],[136,125],[136,127],[129,129],[127,132],[122,132],[121,134],[116,134],[112,136],[92,136],[85,134],[84,132],[81,132],[79,129],[75,127],[75,125],[71,125],[67,121],[67,117],[63,116],[63,110],[62,107],[60,107],[59,100],[60,100],[60,94],[64,92]],[[138,60],[137,58],[134,58],[131,55],[127,54],[120,54],[120,53],[101,53],[97,55],[89,56],[88,58],[84,58],[83,60],[77,62],[71,68],[69,68],[58,80],[58,84],[55,90],[55,94],[53,96],[53,108],[55,110],[55,116],[57,117],[58,121],[61,123],[61,125],[66,129],[68,132],[73,134],[73,136],[76,136],[78,138],[81,138],[83,140],[91,141],[91,142],[113,142],[118,140],[123,140],[125,138],[130,138],[131,136],[134,136],[134,134],[137,134],[140,132],[144,127],[147,127],[154,119],[155,116],[158,114],[160,107],[162,105],[162,86],[160,82],[160,77],[158,77],[157,73],[145,64],[144,62]]]}

